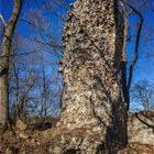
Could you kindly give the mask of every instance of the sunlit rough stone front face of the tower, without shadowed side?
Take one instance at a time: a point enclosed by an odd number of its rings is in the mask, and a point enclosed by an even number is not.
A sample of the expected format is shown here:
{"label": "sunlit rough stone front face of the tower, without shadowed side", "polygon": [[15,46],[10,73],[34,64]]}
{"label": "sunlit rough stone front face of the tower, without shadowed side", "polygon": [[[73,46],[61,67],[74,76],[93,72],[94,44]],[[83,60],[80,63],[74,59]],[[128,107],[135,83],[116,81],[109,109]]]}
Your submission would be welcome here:
{"label": "sunlit rough stone front face of the tower, without shadowed side", "polygon": [[109,125],[112,102],[120,96],[114,1],[79,0],[73,7],[64,34],[66,106],[61,123],[67,129]]}

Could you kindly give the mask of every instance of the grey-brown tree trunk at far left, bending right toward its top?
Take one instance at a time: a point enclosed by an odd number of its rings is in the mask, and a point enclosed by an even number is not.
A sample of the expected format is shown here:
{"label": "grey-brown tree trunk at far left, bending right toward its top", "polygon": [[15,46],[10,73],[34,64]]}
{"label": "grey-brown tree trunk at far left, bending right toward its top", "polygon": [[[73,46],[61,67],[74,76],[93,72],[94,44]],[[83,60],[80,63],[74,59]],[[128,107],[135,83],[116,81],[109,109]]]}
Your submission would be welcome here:
{"label": "grey-brown tree trunk at far left, bending right toward its top", "polygon": [[23,0],[14,0],[14,7],[9,23],[6,25],[0,59],[0,124],[9,122],[9,56],[11,51],[12,36],[15,30],[18,18]]}

